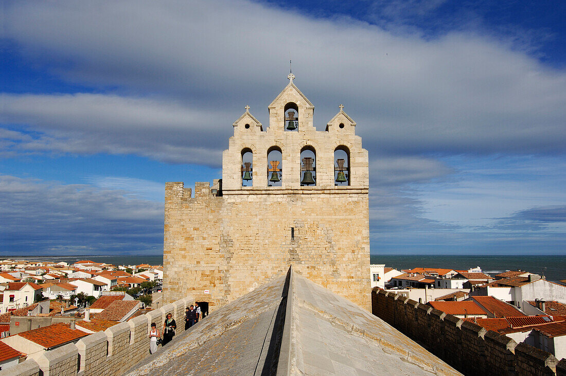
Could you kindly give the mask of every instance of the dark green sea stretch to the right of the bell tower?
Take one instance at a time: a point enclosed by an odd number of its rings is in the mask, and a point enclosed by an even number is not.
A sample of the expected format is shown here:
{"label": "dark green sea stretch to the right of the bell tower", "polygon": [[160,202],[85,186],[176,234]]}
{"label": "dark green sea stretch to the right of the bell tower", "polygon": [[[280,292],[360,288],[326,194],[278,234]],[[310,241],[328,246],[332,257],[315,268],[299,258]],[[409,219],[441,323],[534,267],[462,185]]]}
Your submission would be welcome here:
{"label": "dark green sea stretch to the right of the bell tower", "polygon": [[371,263],[384,263],[397,270],[413,267],[442,267],[468,270],[479,266],[483,273],[502,273],[507,270],[526,270],[542,274],[547,280],[558,282],[566,279],[566,256],[423,256],[372,254]]}

